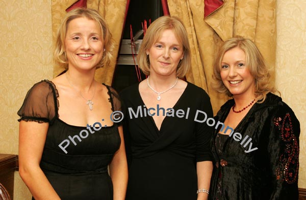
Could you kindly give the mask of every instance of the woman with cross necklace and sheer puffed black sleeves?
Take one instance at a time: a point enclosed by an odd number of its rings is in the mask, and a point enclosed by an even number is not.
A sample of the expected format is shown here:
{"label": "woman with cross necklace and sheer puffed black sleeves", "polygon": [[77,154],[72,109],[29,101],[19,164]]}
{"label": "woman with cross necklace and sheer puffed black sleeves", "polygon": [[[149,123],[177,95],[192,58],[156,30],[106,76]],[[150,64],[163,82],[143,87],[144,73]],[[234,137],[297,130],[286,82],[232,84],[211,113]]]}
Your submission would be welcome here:
{"label": "woman with cross necklace and sheer puffed black sleeves", "polygon": [[[94,80],[113,47],[97,11],[74,9],[63,18],[54,58],[67,71],[35,84],[18,111],[19,173],[33,199],[125,198],[122,126],[110,118],[121,104],[114,89]],[[94,133],[84,131],[101,119]],[[59,146],[65,138],[74,143],[66,153]]]}

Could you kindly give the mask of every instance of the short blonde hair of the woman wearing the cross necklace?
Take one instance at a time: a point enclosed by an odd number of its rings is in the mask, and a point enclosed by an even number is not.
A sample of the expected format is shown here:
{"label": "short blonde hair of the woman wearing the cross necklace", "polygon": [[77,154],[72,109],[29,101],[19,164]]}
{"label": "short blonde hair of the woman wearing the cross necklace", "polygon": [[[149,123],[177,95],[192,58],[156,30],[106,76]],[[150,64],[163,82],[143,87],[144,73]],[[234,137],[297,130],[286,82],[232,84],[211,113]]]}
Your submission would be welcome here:
{"label": "short blonde hair of the woman wearing the cross necklace", "polygon": [[112,40],[112,35],[109,31],[107,23],[103,17],[94,9],[89,8],[76,8],[68,12],[62,19],[60,27],[58,29],[56,42],[54,46],[54,60],[55,63],[68,68],[68,59],[65,52],[65,37],[67,33],[68,24],[71,20],[80,17],[86,17],[87,19],[94,20],[99,30],[101,31],[101,36],[103,37],[104,53],[101,61],[97,64],[96,68],[106,66],[110,64],[113,59],[112,52],[114,50],[114,42]]}

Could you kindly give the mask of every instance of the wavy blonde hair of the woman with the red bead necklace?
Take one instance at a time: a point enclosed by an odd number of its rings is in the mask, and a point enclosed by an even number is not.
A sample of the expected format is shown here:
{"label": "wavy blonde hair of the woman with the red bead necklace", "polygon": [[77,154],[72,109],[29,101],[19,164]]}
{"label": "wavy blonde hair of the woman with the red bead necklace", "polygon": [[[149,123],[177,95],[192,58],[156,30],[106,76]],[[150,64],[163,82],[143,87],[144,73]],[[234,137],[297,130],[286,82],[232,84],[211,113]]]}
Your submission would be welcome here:
{"label": "wavy blonde hair of the woman with the red bead necklace", "polygon": [[223,42],[214,62],[214,84],[213,88],[220,93],[226,93],[228,96],[233,94],[224,86],[221,76],[221,62],[224,54],[235,47],[240,48],[245,53],[246,67],[250,70],[251,75],[255,79],[255,95],[262,103],[266,99],[269,92],[277,92],[275,83],[271,82],[271,75],[262,54],[256,44],[250,39],[236,36]]}

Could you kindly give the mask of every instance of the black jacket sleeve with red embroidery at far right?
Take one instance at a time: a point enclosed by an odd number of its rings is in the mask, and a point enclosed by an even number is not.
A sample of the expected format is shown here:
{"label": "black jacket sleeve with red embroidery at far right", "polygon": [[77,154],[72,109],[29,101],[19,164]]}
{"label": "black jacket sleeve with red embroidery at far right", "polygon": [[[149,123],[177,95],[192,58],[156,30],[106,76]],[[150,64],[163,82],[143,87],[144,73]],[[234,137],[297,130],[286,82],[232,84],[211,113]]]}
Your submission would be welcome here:
{"label": "black jacket sleeve with red embroidery at far right", "polygon": [[270,199],[297,199],[300,124],[294,112],[282,104],[272,118],[268,144],[274,182]]}

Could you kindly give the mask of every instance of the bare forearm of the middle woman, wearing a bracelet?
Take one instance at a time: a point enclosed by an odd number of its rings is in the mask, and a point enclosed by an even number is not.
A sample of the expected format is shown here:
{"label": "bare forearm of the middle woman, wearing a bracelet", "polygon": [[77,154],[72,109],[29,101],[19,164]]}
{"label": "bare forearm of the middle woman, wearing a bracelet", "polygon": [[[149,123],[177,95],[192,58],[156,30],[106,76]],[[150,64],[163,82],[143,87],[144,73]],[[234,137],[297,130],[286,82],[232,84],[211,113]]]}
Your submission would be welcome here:
{"label": "bare forearm of the middle woman, wearing a bracelet", "polygon": [[[207,189],[210,188],[210,180],[213,172],[212,161],[202,161],[196,163],[196,172],[198,179],[198,189]],[[208,199],[208,194],[205,192],[199,192],[197,195],[198,200]]]}

